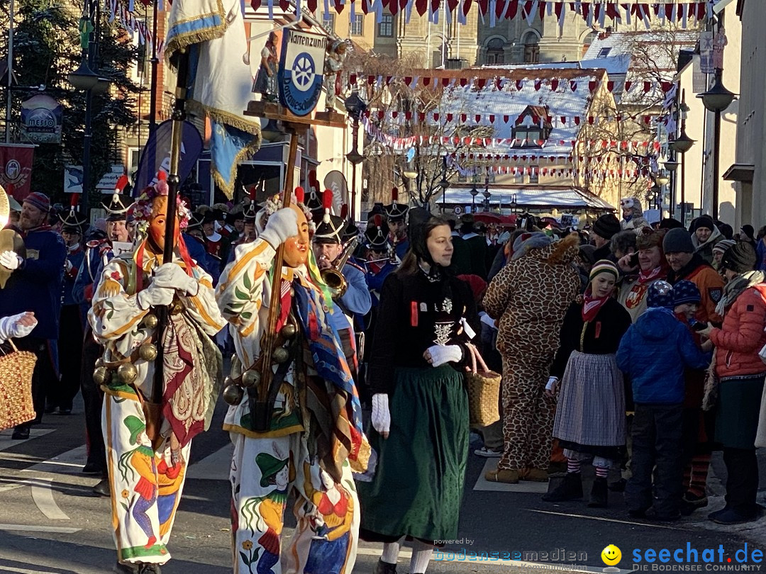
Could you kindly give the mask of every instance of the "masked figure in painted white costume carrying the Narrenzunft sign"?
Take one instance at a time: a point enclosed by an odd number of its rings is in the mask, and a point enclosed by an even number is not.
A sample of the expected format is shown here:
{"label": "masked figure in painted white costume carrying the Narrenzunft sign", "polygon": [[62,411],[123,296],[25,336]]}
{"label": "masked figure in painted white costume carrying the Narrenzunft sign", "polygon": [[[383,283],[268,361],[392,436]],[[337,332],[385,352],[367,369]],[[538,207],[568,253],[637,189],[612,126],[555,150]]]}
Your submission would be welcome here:
{"label": "masked figure in painted white costume carrying the Narrenzunft sign", "polygon": [[[216,292],[237,351],[233,383],[224,390],[231,404],[224,429],[234,442],[235,574],[280,572],[280,559],[282,572],[351,574],[356,559],[359,506],[351,464],[366,466],[361,407],[330,317],[340,311],[319,276],[310,212],[300,203],[303,190],[297,191],[298,203],[288,208],[280,208],[278,196],[267,201],[259,217],[265,228],[254,242],[237,246]],[[280,305],[271,309],[268,272],[280,245]],[[277,313],[274,333],[267,332],[270,313]],[[267,337],[277,338],[268,357],[261,354]],[[274,395],[265,403],[252,388],[263,360],[281,361],[268,367]],[[293,488],[298,523],[290,548],[282,549]]]}

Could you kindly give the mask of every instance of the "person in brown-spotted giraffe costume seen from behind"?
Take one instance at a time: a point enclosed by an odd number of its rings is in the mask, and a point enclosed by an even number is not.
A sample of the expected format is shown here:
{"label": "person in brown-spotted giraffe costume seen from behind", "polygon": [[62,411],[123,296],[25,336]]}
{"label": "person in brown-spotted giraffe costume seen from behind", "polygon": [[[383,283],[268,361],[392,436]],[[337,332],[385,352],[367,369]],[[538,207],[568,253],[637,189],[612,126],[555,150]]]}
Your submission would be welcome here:
{"label": "person in brown-spotted giraffe costume seen from behind", "polygon": [[545,395],[545,381],[561,322],[580,289],[573,265],[578,236],[529,249],[531,244],[522,243],[483,300],[489,316],[498,320],[502,355],[504,447],[497,470],[487,473],[490,481],[517,482],[522,475],[547,479],[556,403]]}

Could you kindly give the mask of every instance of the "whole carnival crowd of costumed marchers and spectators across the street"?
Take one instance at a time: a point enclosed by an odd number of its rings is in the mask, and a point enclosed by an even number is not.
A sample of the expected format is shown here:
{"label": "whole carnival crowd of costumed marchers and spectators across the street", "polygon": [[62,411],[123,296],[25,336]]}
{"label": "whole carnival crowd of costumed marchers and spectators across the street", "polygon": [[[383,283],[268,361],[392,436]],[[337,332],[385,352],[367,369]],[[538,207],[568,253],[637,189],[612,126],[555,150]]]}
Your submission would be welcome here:
{"label": "whole carnival crowd of costumed marchers and spectators across the street", "polygon": [[633,519],[672,521],[707,506],[722,450],[726,505],[709,519],[761,516],[766,227],[650,225],[636,198],[584,230],[501,227],[394,194],[360,230],[327,194],[179,199],[169,234],[162,179],[90,226],[41,192],[11,201],[0,343],[37,357],[36,418],[12,436],[82,393],[115,572],[170,559],[191,441],[222,396],[234,572],[350,574],[368,540],[391,574],[406,539],[424,574],[459,534],[476,351],[502,374],[500,419],[473,426],[474,455],[497,459],[486,480],[579,501],[592,465],[583,504],[624,495]]}

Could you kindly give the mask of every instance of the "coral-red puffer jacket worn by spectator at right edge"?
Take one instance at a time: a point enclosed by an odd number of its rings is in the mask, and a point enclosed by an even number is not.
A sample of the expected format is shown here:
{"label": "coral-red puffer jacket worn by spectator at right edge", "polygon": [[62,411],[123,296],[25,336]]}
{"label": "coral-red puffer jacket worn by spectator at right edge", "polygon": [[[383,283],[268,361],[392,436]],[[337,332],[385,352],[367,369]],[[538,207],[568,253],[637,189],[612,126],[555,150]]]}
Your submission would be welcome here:
{"label": "coral-red puffer jacket worn by spectator at right edge", "polygon": [[715,344],[715,373],[736,377],[766,373],[758,351],[766,344],[766,283],[744,292],[729,308],[720,329],[710,331]]}

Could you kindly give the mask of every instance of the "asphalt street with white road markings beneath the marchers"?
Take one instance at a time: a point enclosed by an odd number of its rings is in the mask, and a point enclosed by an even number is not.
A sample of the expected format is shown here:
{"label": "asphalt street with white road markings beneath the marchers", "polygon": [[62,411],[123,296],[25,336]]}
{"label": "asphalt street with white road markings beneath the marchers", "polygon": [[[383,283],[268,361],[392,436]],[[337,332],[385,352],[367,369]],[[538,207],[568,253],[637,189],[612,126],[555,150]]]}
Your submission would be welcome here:
{"label": "asphalt street with white road markings beneath the marchers", "polygon": [[[223,574],[229,564],[228,436],[220,429],[224,405],[218,406],[213,431],[196,439],[184,498],[175,523],[170,551],[173,559],[162,571],[169,574]],[[85,461],[82,406],[72,416],[46,416],[33,427],[28,441],[0,434],[0,572],[18,574],[97,574],[109,572],[114,562],[108,499],[93,497],[96,478],[82,475]],[[673,525],[630,521],[621,497],[612,495],[608,510],[590,510],[584,503],[560,505],[540,501],[543,486],[488,484],[483,481],[486,460],[470,456],[466,496],[460,524],[462,542],[442,552],[452,561],[434,560],[428,572],[509,572],[535,564],[470,561],[470,553],[522,553],[529,563],[575,563],[570,571],[601,572],[600,553],[614,543],[623,553],[620,569],[630,570],[633,549],[718,549],[725,558],[749,541],[762,546],[766,518],[746,527],[725,529],[705,520],[709,510],[723,504],[721,496],[696,515]],[[494,461],[489,462],[494,465]],[[720,461],[715,471],[722,474]],[[766,472],[762,470],[763,483]],[[588,487],[589,488],[589,487]],[[712,478],[710,488],[721,492]],[[763,493],[762,493],[763,494]],[[391,493],[391,496],[395,496]],[[290,506],[289,506],[290,507]],[[735,532],[736,530],[736,532]],[[287,530],[290,533],[290,529]],[[462,554],[465,550],[466,555]],[[548,559],[543,553],[548,553]],[[564,559],[554,554],[563,553]],[[716,550],[717,552],[717,550]],[[536,556],[535,554],[536,553]],[[566,556],[576,553],[577,559]],[[355,572],[372,572],[380,545],[362,543]],[[400,572],[408,572],[408,553],[400,557]],[[437,554],[436,556],[439,556]],[[463,560],[459,560],[463,558]],[[717,558],[717,556],[716,556]]]}

